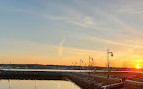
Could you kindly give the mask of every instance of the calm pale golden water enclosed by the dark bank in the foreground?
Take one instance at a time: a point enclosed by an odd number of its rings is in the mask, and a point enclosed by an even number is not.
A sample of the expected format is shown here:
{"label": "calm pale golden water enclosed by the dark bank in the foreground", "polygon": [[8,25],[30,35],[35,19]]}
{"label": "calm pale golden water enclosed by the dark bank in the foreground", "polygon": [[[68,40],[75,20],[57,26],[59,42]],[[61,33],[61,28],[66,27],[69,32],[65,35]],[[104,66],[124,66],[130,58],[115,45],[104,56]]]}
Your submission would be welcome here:
{"label": "calm pale golden water enclosed by the dark bank in the foreground", "polygon": [[0,89],[80,89],[70,81],[61,80],[0,80]]}

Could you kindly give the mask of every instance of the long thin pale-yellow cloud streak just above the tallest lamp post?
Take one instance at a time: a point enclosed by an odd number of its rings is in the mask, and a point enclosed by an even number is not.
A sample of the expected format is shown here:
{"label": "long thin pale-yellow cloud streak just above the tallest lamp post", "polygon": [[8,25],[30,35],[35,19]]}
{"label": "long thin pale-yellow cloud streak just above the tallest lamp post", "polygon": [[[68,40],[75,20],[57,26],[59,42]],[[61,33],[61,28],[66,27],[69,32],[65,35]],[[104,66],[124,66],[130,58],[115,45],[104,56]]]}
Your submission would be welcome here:
{"label": "long thin pale-yellow cloud streak just above the tallest lamp post", "polygon": [[[108,44],[108,45],[115,45],[115,46],[123,46],[123,47],[130,47],[130,48],[140,48],[140,49],[143,49],[142,47],[142,42],[135,42],[134,40],[122,40],[122,41],[118,41],[118,40],[107,40],[105,38],[100,38],[100,37],[96,37],[96,36],[90,36],[90,35],[87,35],[87,34],[73,34],[71,35],[72,38],[76,38],[76,39],[79,39],[79,40],[88,40],[88,41],[91,41],[91,42],[97,42],[99,44],[104,44],[105,46]],[[127,41],[128,40],[128,41]]]}

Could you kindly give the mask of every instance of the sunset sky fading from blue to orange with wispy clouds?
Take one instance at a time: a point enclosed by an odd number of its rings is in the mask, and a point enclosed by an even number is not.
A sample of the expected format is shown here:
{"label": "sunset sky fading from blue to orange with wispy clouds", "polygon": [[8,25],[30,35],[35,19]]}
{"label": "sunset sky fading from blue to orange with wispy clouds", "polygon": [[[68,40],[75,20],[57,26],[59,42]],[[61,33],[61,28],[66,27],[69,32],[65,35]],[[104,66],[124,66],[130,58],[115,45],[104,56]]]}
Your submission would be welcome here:
{"label": "sunset sky fading from blue to orange with wispy clouds", "polygon": [[[0,64],[143,66],[142,0],[2,0]],[[77,62],[77,64],[76,64]]]}

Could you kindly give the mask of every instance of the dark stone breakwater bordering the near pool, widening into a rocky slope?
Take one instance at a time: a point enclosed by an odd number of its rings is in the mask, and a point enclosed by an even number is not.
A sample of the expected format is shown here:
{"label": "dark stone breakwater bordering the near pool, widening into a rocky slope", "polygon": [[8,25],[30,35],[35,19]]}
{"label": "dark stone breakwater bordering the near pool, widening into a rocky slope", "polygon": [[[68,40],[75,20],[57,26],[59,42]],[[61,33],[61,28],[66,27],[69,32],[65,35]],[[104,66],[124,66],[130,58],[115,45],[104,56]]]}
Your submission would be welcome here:
{"label": "dark stone breakwater bordering the near pool, widening into a rocky slope", "polygon": [[[47,72],[47,71],[0,71],[1,79],[31,79],[31,80],[70,80],[82,89],[101,89],[102,86],[119,83],[116,79],[107,79],[85,73]],[[122,87],[122,86],[117,86]],[[116,89],[116,88],[115,88]]]}

